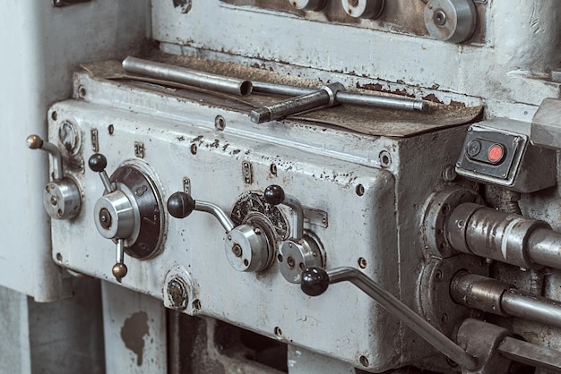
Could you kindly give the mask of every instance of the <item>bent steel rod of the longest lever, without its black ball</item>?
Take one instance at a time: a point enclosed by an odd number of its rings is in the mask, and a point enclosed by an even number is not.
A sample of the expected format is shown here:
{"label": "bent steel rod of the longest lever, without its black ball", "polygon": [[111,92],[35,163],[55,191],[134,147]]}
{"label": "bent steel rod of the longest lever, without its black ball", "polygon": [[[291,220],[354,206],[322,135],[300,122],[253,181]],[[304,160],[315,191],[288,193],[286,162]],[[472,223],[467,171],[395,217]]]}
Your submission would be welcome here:
{"label": "bent steel rod of the longest lever, without its black ball", "polygon": [[349,281],[356,285],[368,296],[372,297],[385,310],[388,310],[395,317],[401,320],[407,327],[415,331],[419,336],[427,341],[428,344],[434,346],[439,352],[451,360],[457,362],[466,370],[476,370],[478,361],[475,357],[466,353],[460,346],[453,343],[452,340],[444,336],[440,331],[422,319],[413,310],[410,310],[405,304],[400,302],[392,293],[387,292],[384,288],[375,283],[374,280],[358,271],[356,268],[334,268],[328,270],[329,283],[338,283]]}

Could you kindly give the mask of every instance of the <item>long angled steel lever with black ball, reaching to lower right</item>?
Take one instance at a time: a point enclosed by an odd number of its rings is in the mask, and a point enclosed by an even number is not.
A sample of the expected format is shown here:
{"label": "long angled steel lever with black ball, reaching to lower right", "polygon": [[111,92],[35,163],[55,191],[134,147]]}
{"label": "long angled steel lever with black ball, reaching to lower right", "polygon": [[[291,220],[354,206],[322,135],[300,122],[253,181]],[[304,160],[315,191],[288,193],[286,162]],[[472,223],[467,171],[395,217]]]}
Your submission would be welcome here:
{"label": "long angled steel lever with black ball, reaching to lower right", "polygon": [[457,362],[466,370],[477,370],[478,361],[466,353],[460,346],[444,336],[435,327],[422,319],[413,310],[400,302],[392,293],[387,292],[374,280],[356,268],[334,268],[325,271],[323,268],[306,268],[302,274],[300,288],[309,296],[319,296],[327,291],[331,284],[349,281],[364,293],[378,302],[385,310],[401,320],[407,327],[434,346],[439,352]]}

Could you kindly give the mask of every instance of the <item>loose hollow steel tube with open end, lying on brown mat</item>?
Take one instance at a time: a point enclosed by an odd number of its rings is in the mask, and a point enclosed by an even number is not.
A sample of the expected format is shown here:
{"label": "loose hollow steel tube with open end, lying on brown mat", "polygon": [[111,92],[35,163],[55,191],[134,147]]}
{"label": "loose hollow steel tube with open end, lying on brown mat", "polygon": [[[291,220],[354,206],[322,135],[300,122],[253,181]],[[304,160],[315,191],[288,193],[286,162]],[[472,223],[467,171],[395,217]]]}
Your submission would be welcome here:
{"label": "loose hollow steel tube with open end, lying on brown mat", "polygon": [[253,89],[251,81],[198,72],[184,67],[160,64],[136,57],[126,57],[123,61],[125,72],[146,75],[167,81],[176,81],[201,89],[212,89],[238,96],[247,96]]}

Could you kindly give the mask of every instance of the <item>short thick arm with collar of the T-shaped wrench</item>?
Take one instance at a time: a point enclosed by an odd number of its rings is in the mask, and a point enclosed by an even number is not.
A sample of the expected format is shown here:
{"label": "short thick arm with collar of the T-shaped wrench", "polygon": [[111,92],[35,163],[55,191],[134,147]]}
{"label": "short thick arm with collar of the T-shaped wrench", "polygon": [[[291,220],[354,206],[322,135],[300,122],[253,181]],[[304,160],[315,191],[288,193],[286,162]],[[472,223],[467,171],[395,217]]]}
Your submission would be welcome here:
{"label": "short thick arm with collar of the T-shaped wrench", "polygon": [[264,123],[274,121],[288,115],[296,115],[320,107],[331,107],[337,104],[335,97],[339,91],[344,91],[341,83],[332,83],[296,98],[288,98],[271,106],[262,106],[251,111],[251,121]]}

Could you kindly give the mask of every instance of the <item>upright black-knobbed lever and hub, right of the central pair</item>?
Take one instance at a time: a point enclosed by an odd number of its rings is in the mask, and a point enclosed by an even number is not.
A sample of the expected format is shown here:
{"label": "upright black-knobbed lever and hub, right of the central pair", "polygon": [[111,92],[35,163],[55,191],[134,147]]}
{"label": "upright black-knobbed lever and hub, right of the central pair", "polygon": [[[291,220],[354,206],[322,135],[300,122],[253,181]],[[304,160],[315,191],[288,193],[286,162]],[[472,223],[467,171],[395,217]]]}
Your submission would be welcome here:
{"label": "upright black-knobbed lever and hub, right of the central pair", "polygon": [[264,191],[265,201],[272,205],[285,205],[294,217],[290,225],[290,237],[280,243],[280,274],[290,283],[300,283],[302,271],[309,267],[323,267],[324,254],[319,244],[304,234],[304,209],[300,201],[290,196],[279,185],[272,184]]}

